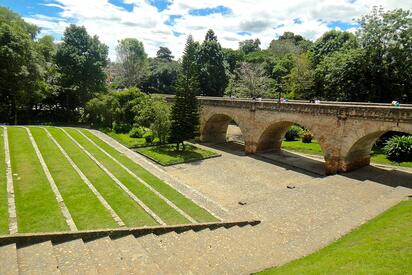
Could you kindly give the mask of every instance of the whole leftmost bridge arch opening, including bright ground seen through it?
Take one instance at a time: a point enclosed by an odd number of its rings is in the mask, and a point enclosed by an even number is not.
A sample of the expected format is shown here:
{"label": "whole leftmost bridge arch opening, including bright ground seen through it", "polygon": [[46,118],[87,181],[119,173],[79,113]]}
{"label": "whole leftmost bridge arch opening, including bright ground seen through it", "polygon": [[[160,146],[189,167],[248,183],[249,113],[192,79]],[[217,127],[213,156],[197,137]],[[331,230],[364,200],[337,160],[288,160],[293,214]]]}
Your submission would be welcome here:
{"label": "whole leftmost bridge arch opening, including bright ground seen through it", "polygon": [[206,121],[201,130],[201,140],[213,143],[227,141],[244,143],[243,131],[239,123],[226,114],[214,114]]}

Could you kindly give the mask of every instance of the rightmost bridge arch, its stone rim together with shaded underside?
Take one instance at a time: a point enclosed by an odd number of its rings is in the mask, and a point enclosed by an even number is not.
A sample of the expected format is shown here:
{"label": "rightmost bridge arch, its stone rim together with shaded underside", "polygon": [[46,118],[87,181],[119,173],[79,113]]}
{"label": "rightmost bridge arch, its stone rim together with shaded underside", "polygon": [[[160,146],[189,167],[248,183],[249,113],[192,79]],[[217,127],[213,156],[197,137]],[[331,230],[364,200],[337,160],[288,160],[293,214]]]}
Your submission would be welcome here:
{"label": "rightmost bridge arch, its stone rim together with shaded underside", "polygon": [[351,171],[370,164],[371,150],[376,141],[385,133],[394,131],[412,134],[411,125],[394,125],[385,123],[384,125],[368,125],[362,127],[343,139],[341,156],[342,163],[340,171]]}

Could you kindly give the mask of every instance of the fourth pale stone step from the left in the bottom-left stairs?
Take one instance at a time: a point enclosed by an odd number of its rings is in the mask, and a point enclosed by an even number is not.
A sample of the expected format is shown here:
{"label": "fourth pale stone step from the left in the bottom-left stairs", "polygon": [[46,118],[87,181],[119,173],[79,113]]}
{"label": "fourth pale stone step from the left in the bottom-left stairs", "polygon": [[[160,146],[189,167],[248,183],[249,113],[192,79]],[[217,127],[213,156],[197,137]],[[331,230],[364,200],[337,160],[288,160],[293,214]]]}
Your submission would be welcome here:
{"label": "fourth pale stone step from the left in the bottom-left stairs", "polygon": [[126,274],[123,257],[113,247],[109,237],[85,242],[89,255],[94,261],[97,271],[102,274]]}

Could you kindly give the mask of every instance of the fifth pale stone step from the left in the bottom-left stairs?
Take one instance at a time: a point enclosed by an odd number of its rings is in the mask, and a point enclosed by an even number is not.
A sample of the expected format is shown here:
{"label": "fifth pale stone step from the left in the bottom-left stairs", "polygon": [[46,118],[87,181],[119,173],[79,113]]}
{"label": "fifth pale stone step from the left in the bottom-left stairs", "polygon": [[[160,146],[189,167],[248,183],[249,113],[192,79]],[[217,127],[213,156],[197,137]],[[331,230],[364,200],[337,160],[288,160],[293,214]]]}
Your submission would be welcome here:
{"label": "fifth pale stone step from the left in the bottom-left stairs", "polygon": [[133,235],[112,239],[112,245],[123,255],[124,265],[131,271],[130,274],[162,274],[159,266]]}

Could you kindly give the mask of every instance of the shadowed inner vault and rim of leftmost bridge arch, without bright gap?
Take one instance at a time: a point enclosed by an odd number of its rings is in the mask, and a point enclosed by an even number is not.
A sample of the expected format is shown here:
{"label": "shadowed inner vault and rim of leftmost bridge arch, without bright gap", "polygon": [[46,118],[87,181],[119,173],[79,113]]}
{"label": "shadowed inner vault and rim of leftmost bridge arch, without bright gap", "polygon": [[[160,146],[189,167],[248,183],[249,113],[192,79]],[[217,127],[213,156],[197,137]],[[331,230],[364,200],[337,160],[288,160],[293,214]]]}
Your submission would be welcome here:
{"label": "shadowed inner vault and rim of leftmost bridge arch, without bright gap", "polygon": [[203,142],[226,142],[226,134],[229,124],[234,121],[240,128],[242,135],[245,135],[245,129],[241,120],[233,114],[213,113],[203,119],[200,127],[200,137]]}

